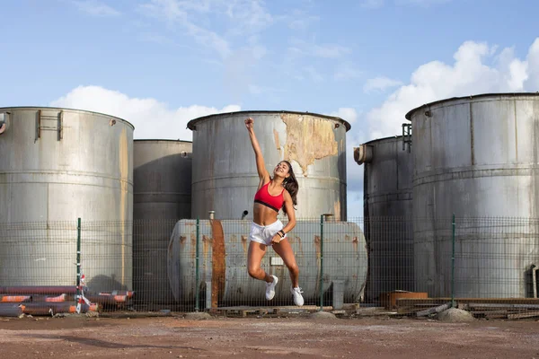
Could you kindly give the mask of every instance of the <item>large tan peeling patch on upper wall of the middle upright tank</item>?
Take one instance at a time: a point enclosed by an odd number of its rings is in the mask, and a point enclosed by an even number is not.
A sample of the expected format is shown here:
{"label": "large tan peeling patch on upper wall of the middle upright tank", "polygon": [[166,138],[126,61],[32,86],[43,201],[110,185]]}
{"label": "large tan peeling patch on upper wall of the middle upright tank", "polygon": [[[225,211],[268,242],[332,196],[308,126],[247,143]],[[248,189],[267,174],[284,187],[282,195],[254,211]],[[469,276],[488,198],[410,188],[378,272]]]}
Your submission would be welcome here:
{"label": "large tan peeling patch on upper wall of the middle upright tank", "polygon": [[289,113],[280,117],[287,125],[285,159],[299,163],[305,177],[314,160],[338,154],[333,124],[327,119]]}

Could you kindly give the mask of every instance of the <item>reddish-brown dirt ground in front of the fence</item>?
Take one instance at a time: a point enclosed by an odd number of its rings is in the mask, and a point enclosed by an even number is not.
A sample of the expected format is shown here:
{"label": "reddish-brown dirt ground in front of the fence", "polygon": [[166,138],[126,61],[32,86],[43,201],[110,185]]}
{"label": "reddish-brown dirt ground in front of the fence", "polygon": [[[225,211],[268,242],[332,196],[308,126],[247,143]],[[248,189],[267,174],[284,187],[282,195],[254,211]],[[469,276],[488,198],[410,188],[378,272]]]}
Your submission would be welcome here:
{"label": "reddish-brown dirt ground in front of the fence", "polygon": [[535,320],[0,318],[4,358],[537,358]]}

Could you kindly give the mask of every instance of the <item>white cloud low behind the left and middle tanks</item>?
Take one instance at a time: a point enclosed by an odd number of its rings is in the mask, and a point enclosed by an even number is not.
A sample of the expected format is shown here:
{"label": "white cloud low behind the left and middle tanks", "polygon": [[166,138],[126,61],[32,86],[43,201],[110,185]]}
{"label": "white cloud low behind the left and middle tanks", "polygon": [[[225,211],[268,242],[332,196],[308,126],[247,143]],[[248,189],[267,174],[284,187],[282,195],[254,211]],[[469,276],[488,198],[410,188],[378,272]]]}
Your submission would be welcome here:
{"label": "white cloud low behind the left and middle tanks", "polygon": [[223,109],[192,105],[170,109],[155,99],[130,98],[128,95],[100,86],[79,86],[52,101],[50,106],[86,109],[123,118],[135,127],[136,139],[159,138],[192,140],[187,123],[193,118],[214,113],[233,112],[240,106],[228,105]]}

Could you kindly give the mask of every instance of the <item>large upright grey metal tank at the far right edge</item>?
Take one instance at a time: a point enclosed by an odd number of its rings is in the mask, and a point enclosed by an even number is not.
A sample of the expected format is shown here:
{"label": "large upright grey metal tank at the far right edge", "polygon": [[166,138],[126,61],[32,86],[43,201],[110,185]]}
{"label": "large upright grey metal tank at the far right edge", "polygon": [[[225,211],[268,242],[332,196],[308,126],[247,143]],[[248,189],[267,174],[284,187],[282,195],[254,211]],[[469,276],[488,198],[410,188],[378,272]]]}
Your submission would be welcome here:
{"label": "large upright grey metal tank at the far right edge", "polygon": [[539,262],[528,222],[539,214],[539,93],[436,101],[406,118],[417,289],[450,295],[455,214],[455,296],[526,297],[526,272]]}

